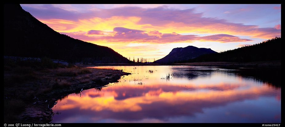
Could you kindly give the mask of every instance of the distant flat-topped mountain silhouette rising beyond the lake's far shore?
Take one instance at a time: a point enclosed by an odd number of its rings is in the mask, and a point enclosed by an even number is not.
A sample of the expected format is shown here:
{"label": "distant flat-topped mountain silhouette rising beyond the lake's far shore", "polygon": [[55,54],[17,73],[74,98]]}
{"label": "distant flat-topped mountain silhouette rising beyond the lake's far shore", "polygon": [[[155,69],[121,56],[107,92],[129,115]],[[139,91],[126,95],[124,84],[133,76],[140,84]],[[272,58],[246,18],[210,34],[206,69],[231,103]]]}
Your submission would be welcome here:
{"label": "distant flat-topped mountain silhouette rising beyond the lake's far shore", "polygon": [[187,46],[185,48],[173,48],[172,51],[162,59],[156,60],[155,64],[171,64],[183,60],[193,59],[203,54],[217,53],[211,48],[197,48],[194,46]]}

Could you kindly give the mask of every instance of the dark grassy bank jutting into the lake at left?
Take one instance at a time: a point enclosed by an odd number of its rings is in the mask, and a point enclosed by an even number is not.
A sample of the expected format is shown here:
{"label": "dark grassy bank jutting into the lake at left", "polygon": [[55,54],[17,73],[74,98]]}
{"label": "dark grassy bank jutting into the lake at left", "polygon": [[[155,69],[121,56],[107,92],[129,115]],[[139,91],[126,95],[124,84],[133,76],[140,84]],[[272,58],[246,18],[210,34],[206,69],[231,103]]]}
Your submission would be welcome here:
{"label": "dark grassy bank jutting into the lake at left", "polygon": [[54,103],[83,89],[117,82],[120,70],[63,66],[50,59],[4,59],[4,122],[50,122]]}

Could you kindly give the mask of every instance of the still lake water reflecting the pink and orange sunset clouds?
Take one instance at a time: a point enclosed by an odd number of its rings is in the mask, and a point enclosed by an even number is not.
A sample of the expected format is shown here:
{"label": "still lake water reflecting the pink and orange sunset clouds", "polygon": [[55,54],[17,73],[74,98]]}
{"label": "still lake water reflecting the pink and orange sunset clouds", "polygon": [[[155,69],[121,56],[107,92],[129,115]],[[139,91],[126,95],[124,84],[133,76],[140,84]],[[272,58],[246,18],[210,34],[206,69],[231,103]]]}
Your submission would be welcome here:
{"label": "still lake water reflecting the pink and orange sunset clouds", "polygon": [[[105,66],[132,75],[70,94],[53,123],[276,123],[281,87],[234,70],[198,66]],[[153,72],[150,72],[152,70]],[[167,78],[168,73],[170,74]]]}

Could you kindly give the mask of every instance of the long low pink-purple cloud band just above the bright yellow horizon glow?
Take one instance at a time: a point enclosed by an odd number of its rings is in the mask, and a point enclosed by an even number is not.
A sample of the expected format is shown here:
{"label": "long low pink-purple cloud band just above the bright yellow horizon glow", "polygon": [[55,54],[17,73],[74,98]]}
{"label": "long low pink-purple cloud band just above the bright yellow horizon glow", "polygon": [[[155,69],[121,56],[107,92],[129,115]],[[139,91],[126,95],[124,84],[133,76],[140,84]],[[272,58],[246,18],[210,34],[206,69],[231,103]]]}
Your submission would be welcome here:
{"label": "long low pink-purple cloud band just above the bright yellow horizon glow", "polygon": [[[91,32],[90,32],[91,31]],[[98,30],[90,30],[89,33],[98,33]],[[181,35],[178,33],[160,33],[159,31],[143,31],[136,29],[127,29],[124,27],[115,27],[113,29],[113,36],[86,36],[84,32],[63,33],[71,37],[82,39],[85,41],[106,41],[106,42],[140,42],[140,43],[175,43],[175,42],[192,42],[198,41],[217,41],[221,43],[227,42],[242,42],[250,41],[249,39],[243,39],[228,34],[215,34],[209,36],[199,37],[197,35]],[[103,33],[103,31],[99,31]],[[88,34],[88,33],[87,33]],[[90,34],[89,34],[90,35]],[[159,36],[157,36],[159,35]]]}

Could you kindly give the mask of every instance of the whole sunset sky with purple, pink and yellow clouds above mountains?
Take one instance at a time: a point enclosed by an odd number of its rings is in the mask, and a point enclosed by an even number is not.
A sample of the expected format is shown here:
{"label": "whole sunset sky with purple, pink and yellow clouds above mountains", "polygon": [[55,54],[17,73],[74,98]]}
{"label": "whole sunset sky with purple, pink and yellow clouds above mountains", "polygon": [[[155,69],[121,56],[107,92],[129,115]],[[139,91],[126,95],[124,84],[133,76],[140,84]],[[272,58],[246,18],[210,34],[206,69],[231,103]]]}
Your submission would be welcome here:
{"label": "whole sunset sky with purple, pink and yellow clouds above mountains", "polygon": [[21,4],[55,31],[152,62],[173,48],[216,52],[281,37],[281,4]]}

